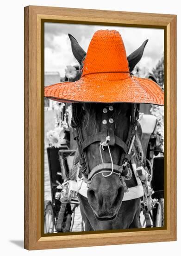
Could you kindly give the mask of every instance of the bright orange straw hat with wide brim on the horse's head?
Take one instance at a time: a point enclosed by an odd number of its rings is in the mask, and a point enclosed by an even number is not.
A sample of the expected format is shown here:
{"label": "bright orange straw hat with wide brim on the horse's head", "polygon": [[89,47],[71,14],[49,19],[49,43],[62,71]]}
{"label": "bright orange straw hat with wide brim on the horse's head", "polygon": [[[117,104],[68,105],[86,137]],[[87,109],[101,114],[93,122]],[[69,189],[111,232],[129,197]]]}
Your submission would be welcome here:
{"label": "bright orange straw hat with wide brim on the horse's head", "polygon": [[47,86],[44,96],[62,102],[164,104],[156,82],[131,75],[122,37],[115,30],[95,32],[80,80]]}

